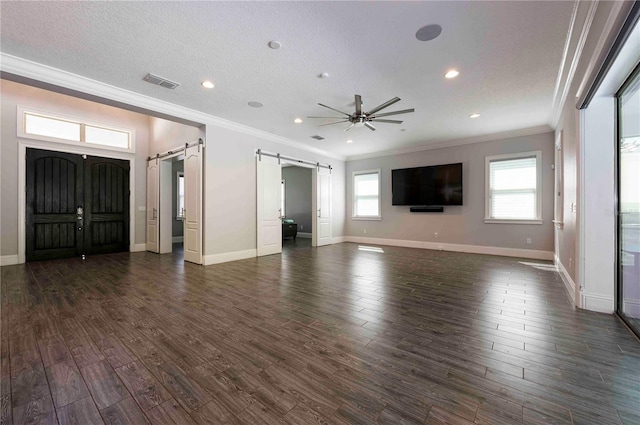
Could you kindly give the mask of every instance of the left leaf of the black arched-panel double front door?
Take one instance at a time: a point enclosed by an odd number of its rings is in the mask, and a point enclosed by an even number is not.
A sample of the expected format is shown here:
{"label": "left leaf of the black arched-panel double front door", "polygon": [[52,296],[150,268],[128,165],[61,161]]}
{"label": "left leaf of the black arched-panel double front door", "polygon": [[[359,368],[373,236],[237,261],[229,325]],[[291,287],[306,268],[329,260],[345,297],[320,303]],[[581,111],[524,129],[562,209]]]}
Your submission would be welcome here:
{"label": "left leaf of the black arched-panel double front door", "polygon": [[80,155],[27,149],[27,261],[83,253],[83,163]]}

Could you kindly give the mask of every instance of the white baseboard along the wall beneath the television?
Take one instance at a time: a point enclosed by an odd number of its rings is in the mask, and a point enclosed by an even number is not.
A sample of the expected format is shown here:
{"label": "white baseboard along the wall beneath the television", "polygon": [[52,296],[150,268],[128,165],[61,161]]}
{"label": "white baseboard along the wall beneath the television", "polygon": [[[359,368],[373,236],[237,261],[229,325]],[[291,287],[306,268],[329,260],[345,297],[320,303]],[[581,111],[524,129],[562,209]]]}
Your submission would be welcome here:
{"label": "white baseboard along the wall beneath the television", "polygon": [[432,249],[436,251],[466,252],[469,254],[500,255],[503,257],[529,258],[533,260],[553,260],[553,252],[534,249],[502,248],[498,246],[463,245],[410,241],[403,239],[368,238],[362,236],[346,236],[346,242],[366,243],[372,245],[401,246],[404,248]]}

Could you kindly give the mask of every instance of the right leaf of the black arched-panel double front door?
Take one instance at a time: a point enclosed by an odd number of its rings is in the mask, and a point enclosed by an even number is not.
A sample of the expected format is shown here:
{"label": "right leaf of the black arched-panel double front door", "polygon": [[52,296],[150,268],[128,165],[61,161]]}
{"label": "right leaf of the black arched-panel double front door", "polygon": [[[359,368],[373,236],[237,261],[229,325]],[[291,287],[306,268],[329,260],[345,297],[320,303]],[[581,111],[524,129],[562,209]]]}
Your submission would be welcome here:
{"label": "right leaf of the black arched-panel double front door", "polygon": [[85,161],[87,254],[129,250],[129,161],[88,157]]}

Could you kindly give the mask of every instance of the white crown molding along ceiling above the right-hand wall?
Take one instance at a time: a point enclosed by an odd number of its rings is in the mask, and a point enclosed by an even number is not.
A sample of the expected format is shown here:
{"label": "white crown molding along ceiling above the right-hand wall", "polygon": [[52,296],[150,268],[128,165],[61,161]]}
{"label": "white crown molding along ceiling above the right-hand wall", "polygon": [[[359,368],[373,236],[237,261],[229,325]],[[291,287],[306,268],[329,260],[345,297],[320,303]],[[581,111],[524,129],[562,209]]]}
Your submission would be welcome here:
{"label": "white crown molding along ceiling above the right-hand wall", "polygon": [[549,115],[551,128],[556,128],[562,115],[597,8],[598,0],[588,2],[577,0],[574,3],[571,23],[562,52],[562,62],[553,93],[551,114]]}

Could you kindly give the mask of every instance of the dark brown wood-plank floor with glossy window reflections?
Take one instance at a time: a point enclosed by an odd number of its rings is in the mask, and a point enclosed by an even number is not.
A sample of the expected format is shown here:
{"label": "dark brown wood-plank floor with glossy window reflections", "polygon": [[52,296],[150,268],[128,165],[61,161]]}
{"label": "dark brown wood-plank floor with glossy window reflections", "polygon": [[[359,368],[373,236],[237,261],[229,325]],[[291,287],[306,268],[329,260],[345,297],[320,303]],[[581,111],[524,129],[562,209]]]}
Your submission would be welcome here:
{"label": "dark brown wood-plank floor with glossy window reflections", "polygon": [[640,344],[546,262],[298,239],[1,272],[2,424],[640,424]]}

